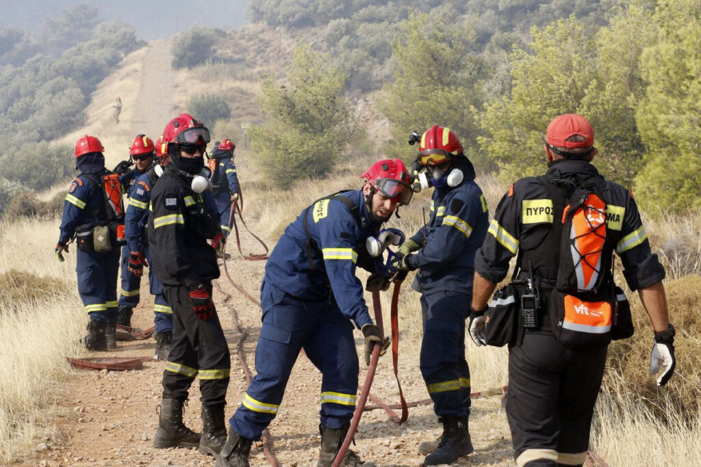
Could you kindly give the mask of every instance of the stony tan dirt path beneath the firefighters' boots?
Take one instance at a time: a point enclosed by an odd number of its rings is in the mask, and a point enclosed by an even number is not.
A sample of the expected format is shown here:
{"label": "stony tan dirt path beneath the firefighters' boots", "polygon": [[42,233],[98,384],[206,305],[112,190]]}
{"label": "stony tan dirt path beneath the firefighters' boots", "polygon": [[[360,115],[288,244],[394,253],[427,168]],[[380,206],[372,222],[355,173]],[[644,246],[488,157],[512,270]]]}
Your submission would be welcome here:
{"label": "stony tan dirt path beneath the firefighters' boots", "polygon": [[[245,261],[236,256],[227,261],[232,278],[248,294],[258,298],[264,261]],[[245,359],[253,370],[254,348],[258,337],[260,310],[229,283],[224,274],[219,279],[215,301],[226,338],[232,350],[231,384],[227,396],[227,414],[238,407],[246,384],[236,358],[234,346],[240,337],[232,313],[249,334],[244,343]],[[223,293],[222,293],[223,292]],[[226,294],[231,297],[224,301]],[[132,323],[151,326],[151,302],[147,288],[142,288],[144,301],[135,309]],[[388,322],[388,319],[386,319]],[[358,352],[362,355],[362,336],[357,333]],[[119,342],[116,351],[107,356],[150,356],[155,342]],[[90,356],[106,356],[104,352]],[[372,392],[386,403],[397,403],[391,358],[381,358]],[[154,449],[151,446],[158,424],[156,407],[161,398],[161,375],[164,363],[148,361],[141,370],[111,372],[107,370],[74,370],[56,388],[57,404],[48,423],[58,427],[57,435],[36,446],[26,466],[213,466],[214,459],[196,449]],[[360,375],[360,381],[365,372]],[[427,398],[418,371],[418,342],[400,341],[400,378],[407,400]],[[481,388],[484,389],[484,388]],[[273,452],[283,466],[315,465],[320,436],[318,432],[318,394],[320,374],[302,355],[294,367],[280,414],[269,428]],[[199,431],[199,390],[191,390],[185,410],[188,426]],[[363,459],[379,466],[419,466],[423,456],[416,447],[422,440],[440,435],[440,426],[430,406],[409,410],[409,420],[398,426],[382,410],[365,412],[353,447]],[[476,454],[454,465],[512,465],[510,436],[499,396],[473,401],[470,431]],[[268,465],[261,447],[253,447],[252,466]]]}

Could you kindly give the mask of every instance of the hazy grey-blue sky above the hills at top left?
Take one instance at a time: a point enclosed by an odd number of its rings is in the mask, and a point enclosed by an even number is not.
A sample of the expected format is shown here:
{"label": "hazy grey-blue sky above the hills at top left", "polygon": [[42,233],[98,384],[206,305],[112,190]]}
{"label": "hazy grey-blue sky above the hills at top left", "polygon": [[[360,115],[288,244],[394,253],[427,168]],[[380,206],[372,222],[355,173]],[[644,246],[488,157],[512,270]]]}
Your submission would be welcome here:
{"label": "hazy grey-blue sky above the hills at top left", "polygon": [[150,41],[195,24],[225,31],[236,29],[248,22],[246,7],[250,0],[0,0],[0,27],[40,29],[44,20],[79,3],[97,5],[100,19],[132,25],[138,39]]}

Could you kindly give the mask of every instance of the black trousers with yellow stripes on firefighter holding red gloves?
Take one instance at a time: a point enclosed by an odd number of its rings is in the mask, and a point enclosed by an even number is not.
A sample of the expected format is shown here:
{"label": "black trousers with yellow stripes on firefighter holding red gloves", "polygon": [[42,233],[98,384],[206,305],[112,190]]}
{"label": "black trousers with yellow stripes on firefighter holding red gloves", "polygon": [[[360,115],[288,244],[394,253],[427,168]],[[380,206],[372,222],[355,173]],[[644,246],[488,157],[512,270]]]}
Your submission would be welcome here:
{"label": "black trousers with yellow stripes on firefighter holding red gloves", "polygon": [[[212,283],[205,282],[212,294]],[[182,399],[195,377],[200,377],[203,405],[226,403],[231,356],[222,324],[215,312],[207,321],[199,319],[190,305],[184,286],[163,285],[163,294],[173,311],[172,342],[163,371],[163,397]]]}

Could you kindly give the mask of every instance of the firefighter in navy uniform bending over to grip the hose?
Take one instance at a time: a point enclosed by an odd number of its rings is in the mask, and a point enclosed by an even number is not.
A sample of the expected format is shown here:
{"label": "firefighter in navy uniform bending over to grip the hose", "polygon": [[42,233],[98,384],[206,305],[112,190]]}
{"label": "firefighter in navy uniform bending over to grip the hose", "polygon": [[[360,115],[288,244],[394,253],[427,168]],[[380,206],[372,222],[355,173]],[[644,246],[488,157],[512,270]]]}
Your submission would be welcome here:
{"label": "firefighter in navy uniform bending over to grip the hose", "polygon": [[[261,285],[257,375],[229,419],[229,439],[217,466],[249,465],[251,442],[260,439],[278,413],[301,349],[322,372],[317,466],[331,466],[339,452],[358,390],[358,354],[349,320],[365,337],[365,363],[376,343],[384,349],[389,345],[370,318],[355,267],[370,267],[367,237],[377,235],[397,205],[407,204],[413,193],[411,176],[399,159],[375,162],[362,177],[360,190],[324,197],[302,211],[273,249]],[[349,450],[342,465],[363,463]]]}

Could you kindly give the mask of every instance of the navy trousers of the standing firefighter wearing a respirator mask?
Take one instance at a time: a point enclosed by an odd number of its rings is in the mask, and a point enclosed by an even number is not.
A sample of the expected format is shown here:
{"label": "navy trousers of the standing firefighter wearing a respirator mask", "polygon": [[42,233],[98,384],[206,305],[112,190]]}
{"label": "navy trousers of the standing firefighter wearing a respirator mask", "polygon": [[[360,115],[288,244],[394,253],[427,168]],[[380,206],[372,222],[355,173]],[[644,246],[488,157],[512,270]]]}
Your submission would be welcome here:
{"label": "navy trousers of the standing firefighter wearing a respirator mask", "polygon": [[470,295],[465,293],[442,291],[421,296],[424,325],[419,366],[439,416],[470,414],[470,368],[465,361],[469,309]]}

